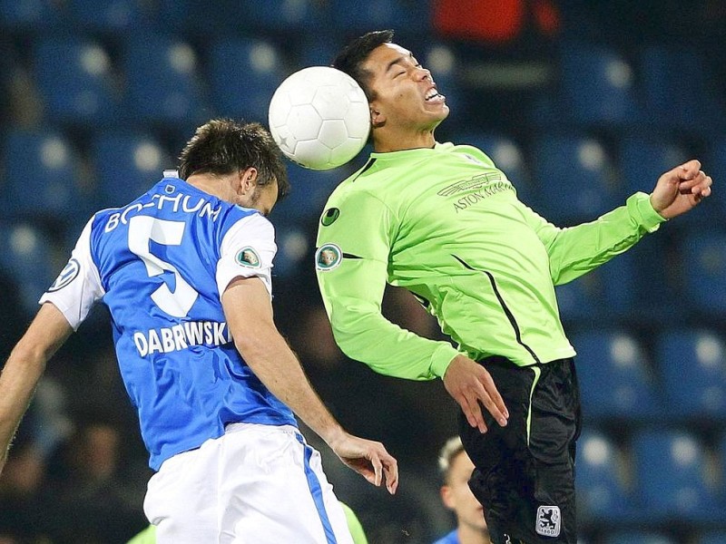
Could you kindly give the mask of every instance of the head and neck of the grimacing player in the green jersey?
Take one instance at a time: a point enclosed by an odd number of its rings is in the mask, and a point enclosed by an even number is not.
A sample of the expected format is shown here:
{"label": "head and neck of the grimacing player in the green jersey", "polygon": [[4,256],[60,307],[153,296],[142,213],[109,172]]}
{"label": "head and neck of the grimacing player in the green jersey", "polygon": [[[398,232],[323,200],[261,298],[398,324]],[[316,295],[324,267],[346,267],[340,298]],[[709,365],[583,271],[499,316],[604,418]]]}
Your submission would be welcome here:
{"label": "head and neck of the grimacing player in the green jersey", "polygon": [[392,30],[359,36],[333,66],[363,88],[376,151],[433,147],[434,130],[448,115],[446,98],[413,53],[393,43]]}

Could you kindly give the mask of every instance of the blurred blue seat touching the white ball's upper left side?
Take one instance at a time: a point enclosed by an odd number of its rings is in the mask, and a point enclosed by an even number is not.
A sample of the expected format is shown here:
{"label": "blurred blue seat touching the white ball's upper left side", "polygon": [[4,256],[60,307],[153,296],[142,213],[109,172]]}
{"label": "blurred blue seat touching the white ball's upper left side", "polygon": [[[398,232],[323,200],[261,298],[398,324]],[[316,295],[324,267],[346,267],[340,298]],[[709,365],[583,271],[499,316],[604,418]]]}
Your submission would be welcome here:
{"label": "blurred blue seat touching the white ball's upper left side", "polygon": [[211,45],[211,96],[221,115],[267,126],[270,99],[286,75],[280,51],[269,40],[221,40]]}

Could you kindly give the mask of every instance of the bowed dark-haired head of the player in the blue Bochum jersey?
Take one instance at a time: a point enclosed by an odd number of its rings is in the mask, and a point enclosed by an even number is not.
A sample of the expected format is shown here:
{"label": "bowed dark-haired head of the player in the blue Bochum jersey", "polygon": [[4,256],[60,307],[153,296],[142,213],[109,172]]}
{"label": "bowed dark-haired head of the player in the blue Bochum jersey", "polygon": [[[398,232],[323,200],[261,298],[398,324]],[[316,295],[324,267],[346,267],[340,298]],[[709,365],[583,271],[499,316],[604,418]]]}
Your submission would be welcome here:
{"label": "bowed dark-haired head of the player in the blue Bochum jersey", "polygon": [[[247,183],[249,193],[213,194],[265,213],[289,193],[288,173],[280,148],[272,140],[270,132],[257,122],[207,121],[186,143],[179,160],[179,177],[182,180],[201,176],[233,180],[236,193],[244,190],[238,189],[240,184]],[[239,183],[235,177],[239,177]],[[273,188],[277,190],[273,191]]]}

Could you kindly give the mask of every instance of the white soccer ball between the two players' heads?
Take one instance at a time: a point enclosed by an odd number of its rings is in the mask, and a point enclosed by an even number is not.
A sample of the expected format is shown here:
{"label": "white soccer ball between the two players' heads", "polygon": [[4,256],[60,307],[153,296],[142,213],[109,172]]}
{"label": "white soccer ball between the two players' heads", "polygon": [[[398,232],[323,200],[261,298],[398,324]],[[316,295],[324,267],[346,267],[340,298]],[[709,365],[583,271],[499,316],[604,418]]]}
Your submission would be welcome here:
{"label": "white soccer ball between the two players' heads", "polygon": [[347,73],[310,66],[292,73],[272,95],[270,133],[300,166],[330,170],[353,159],[368,141],[368,99]]}

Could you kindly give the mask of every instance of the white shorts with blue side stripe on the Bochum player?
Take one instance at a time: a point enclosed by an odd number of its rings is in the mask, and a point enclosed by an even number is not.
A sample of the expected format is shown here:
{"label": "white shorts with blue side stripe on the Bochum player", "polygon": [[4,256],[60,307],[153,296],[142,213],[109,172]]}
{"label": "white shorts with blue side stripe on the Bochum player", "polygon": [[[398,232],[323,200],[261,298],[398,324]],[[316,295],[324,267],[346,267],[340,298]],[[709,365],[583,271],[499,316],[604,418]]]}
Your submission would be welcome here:
{"label": "white shorts with blue side stripe on the Bochum player", "polygon": [[289,425],[228,425],[164,461],[143,501],[158,544],[352,544],[320,454]]}

